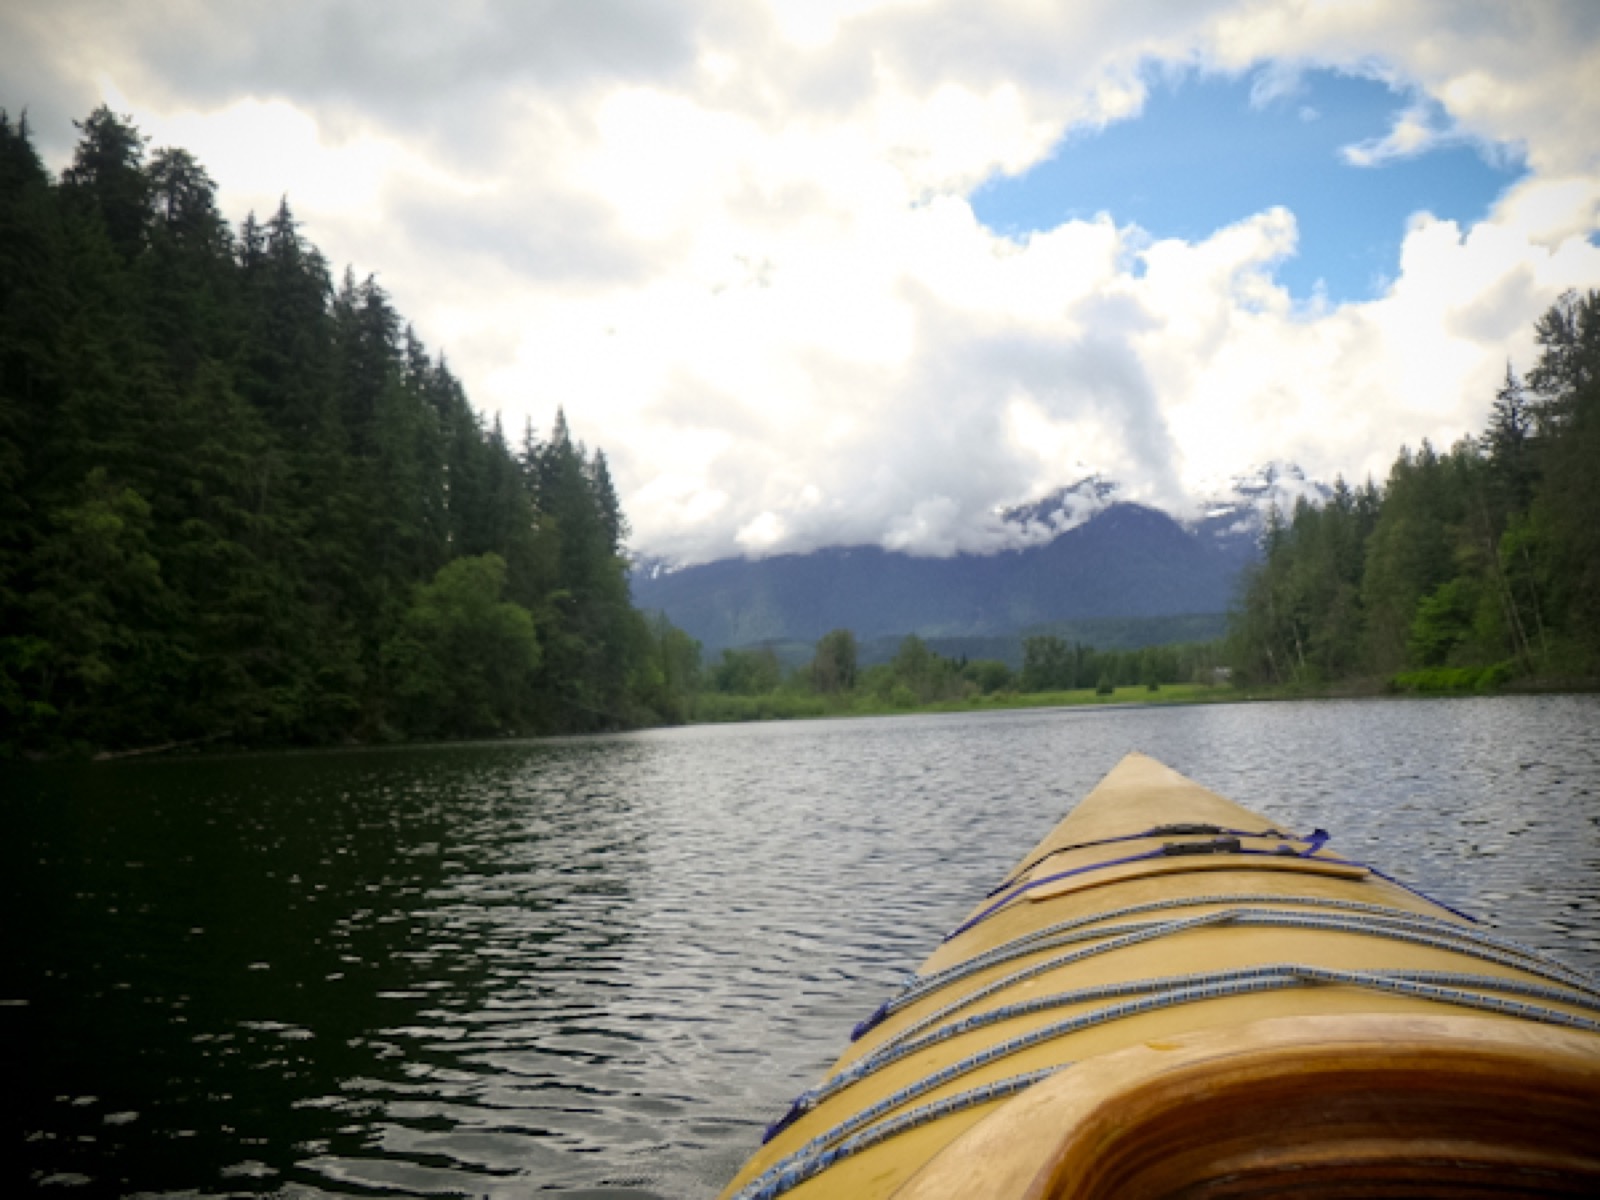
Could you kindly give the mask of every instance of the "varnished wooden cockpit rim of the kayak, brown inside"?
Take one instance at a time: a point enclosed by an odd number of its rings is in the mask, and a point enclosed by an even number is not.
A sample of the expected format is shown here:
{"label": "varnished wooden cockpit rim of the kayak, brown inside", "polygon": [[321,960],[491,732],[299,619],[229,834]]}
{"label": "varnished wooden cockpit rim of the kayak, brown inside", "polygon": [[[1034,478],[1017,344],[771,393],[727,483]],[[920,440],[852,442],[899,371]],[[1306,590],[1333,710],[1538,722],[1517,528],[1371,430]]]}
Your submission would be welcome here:
{"label": "varnished wooden cockpit rim of the kayak, brown inside", "polygon": [[1594,1043],[1477,1018],[1200,1030],[1040,1080],[894,1197],[1592,1197]]}

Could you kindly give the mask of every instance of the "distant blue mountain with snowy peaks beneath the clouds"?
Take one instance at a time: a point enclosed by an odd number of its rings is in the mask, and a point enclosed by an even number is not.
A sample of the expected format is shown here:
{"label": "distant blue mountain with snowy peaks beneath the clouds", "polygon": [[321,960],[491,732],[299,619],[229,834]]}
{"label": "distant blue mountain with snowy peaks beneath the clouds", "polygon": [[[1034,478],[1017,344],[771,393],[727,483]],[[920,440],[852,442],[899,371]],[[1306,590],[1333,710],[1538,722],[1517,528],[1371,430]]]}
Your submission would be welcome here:
{"label": "distant blue mountain with snowy peaks beneath the clouds", "polygon": [[1270,466],[1181,522],[1117,499],[1117,485],[1096,475],[1003,512],[1018,549],[917,558],[850,546],[680,570],[642,562],[634,603],[666,613],[709,651],[814,642],[830,629],[862,642],[906,634],[944,642],[1219,614],[1256,557],[1266,507],[1315,488],[1298,469]]}

